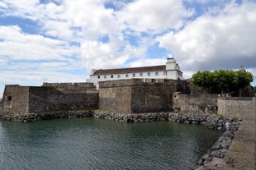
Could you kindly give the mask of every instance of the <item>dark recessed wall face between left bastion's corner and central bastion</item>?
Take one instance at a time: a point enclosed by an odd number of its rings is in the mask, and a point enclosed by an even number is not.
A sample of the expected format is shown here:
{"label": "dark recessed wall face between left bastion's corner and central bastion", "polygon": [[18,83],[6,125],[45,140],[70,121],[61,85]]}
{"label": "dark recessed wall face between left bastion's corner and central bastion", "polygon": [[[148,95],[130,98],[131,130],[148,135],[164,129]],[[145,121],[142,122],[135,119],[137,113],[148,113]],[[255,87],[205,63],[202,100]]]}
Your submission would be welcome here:
{"label": "dark recessed wall face between left bastion's corner and central bastion", "polygon": [[97,108],[98,93],[63,93],[54,87],[30,88],[30,112]]}

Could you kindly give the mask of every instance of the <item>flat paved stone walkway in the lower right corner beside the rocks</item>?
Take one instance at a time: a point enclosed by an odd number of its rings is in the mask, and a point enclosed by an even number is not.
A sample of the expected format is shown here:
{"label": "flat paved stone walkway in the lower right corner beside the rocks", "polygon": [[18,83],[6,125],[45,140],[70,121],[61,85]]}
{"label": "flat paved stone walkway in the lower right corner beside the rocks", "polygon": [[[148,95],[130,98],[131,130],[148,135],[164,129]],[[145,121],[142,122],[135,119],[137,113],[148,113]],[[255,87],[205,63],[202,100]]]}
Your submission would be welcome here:
{"label": "flat paved stone walkway in the lower right corner beside the rocks", "polygon": [[252,101],[252,112],[244,113],[230,149],[225,157],[224,170],[256,169],[256,103]]}

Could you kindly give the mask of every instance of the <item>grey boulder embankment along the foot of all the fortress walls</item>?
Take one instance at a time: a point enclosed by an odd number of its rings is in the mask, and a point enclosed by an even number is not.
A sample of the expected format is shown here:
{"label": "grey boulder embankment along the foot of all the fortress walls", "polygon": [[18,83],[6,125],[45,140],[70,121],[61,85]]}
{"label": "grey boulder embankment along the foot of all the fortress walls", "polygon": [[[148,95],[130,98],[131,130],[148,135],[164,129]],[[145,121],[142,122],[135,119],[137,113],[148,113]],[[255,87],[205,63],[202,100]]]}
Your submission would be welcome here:
{"label": "grey boulder embankment along the foot of all the fortress walls", "polygon": [[96,117],[120,122],[154,122],[174,121],[182,123],[203,124],[216,130],[225,129],[225,119],[216,114],[197,113],[140,113],[121,114],[95,111],[63,111],[47,113],[0,113],[0,120],[13,122],[33,122],[39,120],[68,118],[68,117]]}

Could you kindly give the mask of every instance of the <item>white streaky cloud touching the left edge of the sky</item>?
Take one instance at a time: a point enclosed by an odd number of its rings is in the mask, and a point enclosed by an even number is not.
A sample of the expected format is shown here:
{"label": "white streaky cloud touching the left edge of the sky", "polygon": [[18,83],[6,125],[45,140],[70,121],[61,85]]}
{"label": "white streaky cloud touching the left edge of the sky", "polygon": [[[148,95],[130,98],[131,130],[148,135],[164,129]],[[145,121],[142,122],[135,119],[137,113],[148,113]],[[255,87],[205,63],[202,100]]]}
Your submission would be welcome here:
{"label": "white streaky cloud touching the left edge of the sky", "polygon": [[17,25],[0,26],[0,56],[16,60],[65,60],[64,56],[78,53],[67,42],[26,34]]}

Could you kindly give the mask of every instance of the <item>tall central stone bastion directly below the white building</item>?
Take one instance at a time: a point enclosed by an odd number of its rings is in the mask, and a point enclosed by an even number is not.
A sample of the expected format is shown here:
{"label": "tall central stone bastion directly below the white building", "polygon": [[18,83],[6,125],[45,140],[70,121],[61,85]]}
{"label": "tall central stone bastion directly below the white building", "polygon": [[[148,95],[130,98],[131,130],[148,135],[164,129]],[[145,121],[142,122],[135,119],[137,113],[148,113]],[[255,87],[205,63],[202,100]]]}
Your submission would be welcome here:
{"label": "tall central stone bastion directly below the white building", "polygon": [[173,92],[182,80],[130,79],[100,82],[99,109],[119,113],[149,113],[172,109]]}

